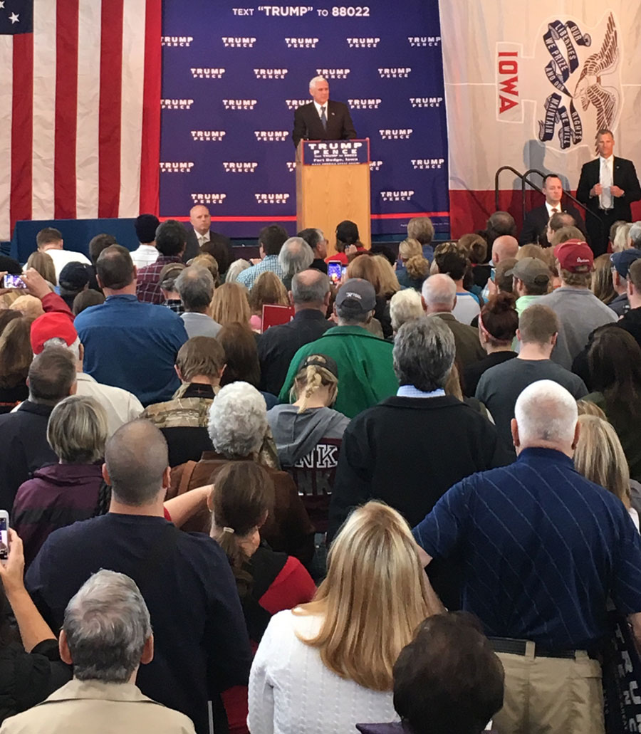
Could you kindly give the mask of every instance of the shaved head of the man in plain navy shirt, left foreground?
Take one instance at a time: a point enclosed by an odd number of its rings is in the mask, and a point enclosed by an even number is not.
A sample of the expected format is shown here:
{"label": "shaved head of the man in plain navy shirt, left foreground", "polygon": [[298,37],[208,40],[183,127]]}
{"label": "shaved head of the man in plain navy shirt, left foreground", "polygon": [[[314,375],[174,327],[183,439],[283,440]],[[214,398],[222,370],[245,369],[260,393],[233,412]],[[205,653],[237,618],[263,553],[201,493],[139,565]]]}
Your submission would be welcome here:
{"label": "shaved head of the man in plain navy shirt, left foreground", "polygon": [[163,475],[169,465],[167,441],[149,421],[131,421],[107,441],[106,471],[114,498],[125,505],[151,504],[164,491]]}

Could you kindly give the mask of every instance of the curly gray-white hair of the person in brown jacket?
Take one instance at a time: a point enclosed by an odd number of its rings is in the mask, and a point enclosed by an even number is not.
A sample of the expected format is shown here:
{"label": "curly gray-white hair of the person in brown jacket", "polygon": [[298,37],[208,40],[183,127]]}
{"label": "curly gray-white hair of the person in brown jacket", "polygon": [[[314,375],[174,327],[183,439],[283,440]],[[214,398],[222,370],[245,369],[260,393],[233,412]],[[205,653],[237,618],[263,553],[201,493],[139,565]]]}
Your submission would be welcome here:
{"label": "curly gray-white hair of the person in brown jacket", "polygon": [[267,432],[267,404],[249,382],[232,382],[209,408],[209,437],[226,459],[258,453]]}

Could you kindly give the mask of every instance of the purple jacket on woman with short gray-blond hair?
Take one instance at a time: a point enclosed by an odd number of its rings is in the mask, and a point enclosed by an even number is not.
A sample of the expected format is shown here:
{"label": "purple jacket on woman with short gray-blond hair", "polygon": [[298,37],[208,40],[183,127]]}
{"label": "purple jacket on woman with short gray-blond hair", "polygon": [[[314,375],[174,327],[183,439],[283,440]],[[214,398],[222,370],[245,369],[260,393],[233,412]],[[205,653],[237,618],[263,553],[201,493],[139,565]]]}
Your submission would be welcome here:
{"label": "purple jacket on woman with short gray-blond hair", "polygon": [[25,568],[54,530],[95,515],[101,482],[99,464],[53,464],[21,484],[11,525],[24,544]]}

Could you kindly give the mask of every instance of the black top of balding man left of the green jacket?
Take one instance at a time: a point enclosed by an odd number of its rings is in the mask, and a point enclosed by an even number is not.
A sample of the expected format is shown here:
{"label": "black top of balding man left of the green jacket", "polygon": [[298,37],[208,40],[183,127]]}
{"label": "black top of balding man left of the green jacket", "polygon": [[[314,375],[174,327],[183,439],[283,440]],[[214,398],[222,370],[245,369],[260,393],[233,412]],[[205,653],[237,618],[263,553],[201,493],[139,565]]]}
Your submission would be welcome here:
{"label": "black top of balding man left of the green jacket", "polygon": [[259,388],[278,395],[285,383],[289,363],[303,344],[316,341],[336,324],[330,323],[319,310],[303,308],[289,324],[272,326],[258,338],[258,359],[261,362]]}

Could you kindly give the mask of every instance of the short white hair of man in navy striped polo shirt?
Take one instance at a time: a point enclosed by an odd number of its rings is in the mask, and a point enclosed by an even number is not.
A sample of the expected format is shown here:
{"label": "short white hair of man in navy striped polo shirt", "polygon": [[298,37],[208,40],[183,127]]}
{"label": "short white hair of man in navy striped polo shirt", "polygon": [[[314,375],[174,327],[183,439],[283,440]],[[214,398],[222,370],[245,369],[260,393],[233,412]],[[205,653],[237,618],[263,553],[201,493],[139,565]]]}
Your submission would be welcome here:
{"label": "short white hair of man in navy striped polo shirt", "polygon": [[534,446],[537,441],[571,443],[576,429],[576,400],[551,379],[532,382],[518,396],[514,407],[521,444]]}

